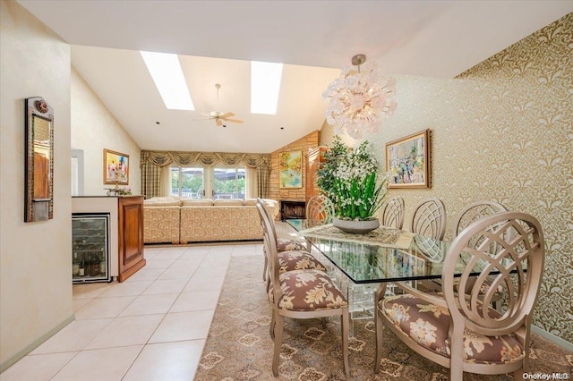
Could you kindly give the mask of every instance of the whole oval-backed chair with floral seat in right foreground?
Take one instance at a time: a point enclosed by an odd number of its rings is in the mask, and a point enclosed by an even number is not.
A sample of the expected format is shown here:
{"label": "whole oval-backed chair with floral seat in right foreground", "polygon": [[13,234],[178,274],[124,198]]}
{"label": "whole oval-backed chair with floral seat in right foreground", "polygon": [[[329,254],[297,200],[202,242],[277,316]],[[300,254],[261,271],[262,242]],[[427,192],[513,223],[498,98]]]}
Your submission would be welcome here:
{"label": "whole oval-backed chair with floral seat in right foreground", "polygon": [[[543,232],[534,216],[500,212],[470,224],[446,254],[442,293],[420,292],[401,283],[397,285],[403,294],[384,298],[382,287],[377,292],[374,371],[380,370],[383,327],[388,327],[412,350],[449,368],[451,380],[463,379],[464,372],[513,372],[522,380],[529,366],[530,325],[543,260]],[[460,287],[479,274],[470,294],[455,290],[460,264],[465,264]],[[480,294],[488,277],[493,287]],[[506,296],[502,312],[490,307],[497,287]]]}

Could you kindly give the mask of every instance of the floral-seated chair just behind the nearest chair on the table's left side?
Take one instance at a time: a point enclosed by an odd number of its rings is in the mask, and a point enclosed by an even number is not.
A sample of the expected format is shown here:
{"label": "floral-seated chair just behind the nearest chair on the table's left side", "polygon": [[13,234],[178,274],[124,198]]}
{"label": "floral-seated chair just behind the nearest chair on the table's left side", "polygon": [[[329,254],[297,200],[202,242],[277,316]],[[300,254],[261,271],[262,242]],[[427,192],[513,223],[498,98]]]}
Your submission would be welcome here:
{"label": "floral-seated chair just behind the nearest chair on the table's left side", "polygon": [[[278,244],[277,232],[275,230],[275,224],[272,217],[269,215],[269,211],[264,206],[264,201],[262,199],[257,199],[257,210],[259,211],[259,216],[261,217],[261,228],[263,232],[263,241],[265,245],[263,247],[263,253],[265,257],[265,264],[263,269],[262,279],[267,282],[267,289],[269,289],[269,248],[272,246],[278,252],[278,263],[279,271],[281,273],[292,270],[301,270],[307,268],[313,268],[321,271],[327,271],[326,267],[314,258],[312,254],[306,250],[298,250],[298,244],[294,241],[292,244]],[[267,227],[270,226],[270,228]],[[272,238],[270,237],[268,231],[272,231]],[[270,241],[269,241],[270,240]],[[280,250],[279,250],[280,249]]]}

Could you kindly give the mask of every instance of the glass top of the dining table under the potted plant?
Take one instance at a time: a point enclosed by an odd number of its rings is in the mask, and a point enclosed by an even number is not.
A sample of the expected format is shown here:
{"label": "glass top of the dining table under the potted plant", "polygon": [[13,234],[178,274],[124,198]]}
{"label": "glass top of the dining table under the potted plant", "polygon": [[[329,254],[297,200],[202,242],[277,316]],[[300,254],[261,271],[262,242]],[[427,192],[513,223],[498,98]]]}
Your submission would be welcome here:
{"label": "glass top of the dining table under the potted plant", "polygon": [[[287,219],[287,224],[295,228],[312,246],[329,259],[355,284],[379,284],[398,281],[437,279],[441,277],[443,260],[449,249],[449,242],[435,240],[421,235],[403,232],[408,235],[406,245],[374,242],[362,234],[339,234],[329,236],[321,229],[313,230],[320,224],[305,219]],[[336,229],[336,228],[332,228]],[[379,229],[387,229],[381,226]],[[328,229],[327,229],[328,230]],[[398,232],[394,229],[392,231]],[[456,274],[461,275],[466,268],[463,257],[459,259]],[[472,273],[479,275],[481,268],[476,264]],[[474,275],[474,274],[472,274]]]}

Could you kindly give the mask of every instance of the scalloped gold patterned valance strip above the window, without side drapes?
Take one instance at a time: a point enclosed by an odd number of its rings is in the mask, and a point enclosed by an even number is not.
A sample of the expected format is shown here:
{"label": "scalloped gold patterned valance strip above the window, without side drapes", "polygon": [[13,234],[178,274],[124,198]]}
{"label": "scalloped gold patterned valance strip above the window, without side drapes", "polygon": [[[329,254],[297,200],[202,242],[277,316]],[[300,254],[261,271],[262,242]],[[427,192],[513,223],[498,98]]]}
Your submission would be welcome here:
{"label": "scalloped gold patterned valance strip above the window, without side drapes", "polygon": [[153,164],[170,165],[225,165],[244,164],[252,168],[270,164],[269,154],[235,154],[227,152],[180,152],[180,151],[141,151],[141,166]]}

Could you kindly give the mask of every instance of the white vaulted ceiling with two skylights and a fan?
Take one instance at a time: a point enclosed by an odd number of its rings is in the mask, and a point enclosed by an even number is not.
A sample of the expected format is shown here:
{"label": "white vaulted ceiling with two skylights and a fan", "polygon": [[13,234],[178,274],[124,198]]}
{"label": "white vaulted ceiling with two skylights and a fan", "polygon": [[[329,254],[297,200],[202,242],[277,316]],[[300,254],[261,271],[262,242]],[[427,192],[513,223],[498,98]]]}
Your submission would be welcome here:
{"label": "white vaulted ceiling with two skylights and a fan", "polygon": [[[570,0],[18,2],[73,46],[75,69],[142,149],[257,153],[321,128],[321,93],[355,54],[452,78],[573,12]],[[165,108],[139,50],[180,55],[196,112]],[[286,63],[276,115],[250,114],[251,60]],[[244,124],[193,120],[215,110],[215,83],[218,111]]]}

